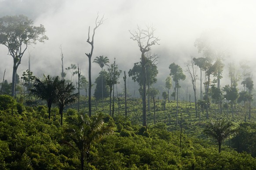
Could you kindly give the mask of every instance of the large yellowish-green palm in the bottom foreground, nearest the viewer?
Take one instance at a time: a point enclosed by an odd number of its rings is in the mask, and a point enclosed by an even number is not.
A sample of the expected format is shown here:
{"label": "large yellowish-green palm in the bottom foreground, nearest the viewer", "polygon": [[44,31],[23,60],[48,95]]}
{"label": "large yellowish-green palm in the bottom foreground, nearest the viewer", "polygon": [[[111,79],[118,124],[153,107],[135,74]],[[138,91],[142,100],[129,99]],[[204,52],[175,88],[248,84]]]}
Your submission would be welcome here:
{"label": "large yellowish-green palm in the bottom foreground, nearest the viewer", "polygon": [[95,116],[67,117],[68,127],[65,129],[67,136],[73,142],[66,142],[71,146],[80,157],[81,170],[84,170],[84,160],[88,160],[91,143],[100,141],[106,135],[113,133],[113,124],[108,123],[105,125],[102,114]]}

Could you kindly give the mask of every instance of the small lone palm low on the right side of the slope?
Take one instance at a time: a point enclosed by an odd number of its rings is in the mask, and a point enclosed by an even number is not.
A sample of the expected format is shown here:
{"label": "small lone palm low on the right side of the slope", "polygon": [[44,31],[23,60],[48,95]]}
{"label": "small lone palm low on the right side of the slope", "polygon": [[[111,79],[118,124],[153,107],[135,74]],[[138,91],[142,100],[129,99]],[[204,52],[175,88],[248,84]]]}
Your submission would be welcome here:
{"label": "small lone palm low on the right side of the slope", "polygon": [[219,144],[219,153],[220,147],[224,139],[230,136],[230,134],[234,133],[234,130],[231,130],[230,127],[233,124],[231,122],[226,122],[222,119],[211,121],[209,124],[206,125],[204,129],[204,133],[208,137],[212,137],[216,139]]}

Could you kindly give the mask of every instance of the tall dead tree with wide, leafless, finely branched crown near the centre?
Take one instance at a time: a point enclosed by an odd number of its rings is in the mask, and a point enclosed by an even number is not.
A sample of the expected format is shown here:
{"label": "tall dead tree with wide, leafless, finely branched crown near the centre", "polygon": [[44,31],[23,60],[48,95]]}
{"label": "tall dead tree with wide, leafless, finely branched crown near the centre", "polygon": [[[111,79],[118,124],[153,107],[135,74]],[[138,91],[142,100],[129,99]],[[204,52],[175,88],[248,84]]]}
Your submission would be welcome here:
{"label": "tall dead tree with wide, leafless, finely branched crown near the centre", "polygon": [[137,26],[137,30],[133,33],[131,39],[136,41],[141,52],[141,66],[142,66],[142,77],[143,77],[143,95],[142,95],[142,114],[143,114],[143,126],[146,126],[146,55],[145,53],[150,51],[151,46],[159,44],[158,37],[154,36],[155,29],[152,25],[146,26],[146,29],[141,29]]}

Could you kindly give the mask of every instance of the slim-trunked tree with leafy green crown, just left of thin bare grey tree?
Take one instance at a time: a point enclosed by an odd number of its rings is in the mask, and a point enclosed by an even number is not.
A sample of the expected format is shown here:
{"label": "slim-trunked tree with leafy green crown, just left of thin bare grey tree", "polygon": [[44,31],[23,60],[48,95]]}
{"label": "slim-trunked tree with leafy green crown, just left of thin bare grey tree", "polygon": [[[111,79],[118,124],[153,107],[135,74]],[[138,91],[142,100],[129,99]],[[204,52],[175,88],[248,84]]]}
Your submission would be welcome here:
{"label": "slim-trunked tree with leafy green crown, just left of thin bare grey tree", "polygon": [[175,82],[175,89],[177,89],[177,108],[176,108],[176,123],[178,125],[178,94],[179,94],[179,80],[185,80],[186,75],[183,74],[183,70],[179,65],[172,63],[169,65],[170,76],[172,76],[172,80]]}

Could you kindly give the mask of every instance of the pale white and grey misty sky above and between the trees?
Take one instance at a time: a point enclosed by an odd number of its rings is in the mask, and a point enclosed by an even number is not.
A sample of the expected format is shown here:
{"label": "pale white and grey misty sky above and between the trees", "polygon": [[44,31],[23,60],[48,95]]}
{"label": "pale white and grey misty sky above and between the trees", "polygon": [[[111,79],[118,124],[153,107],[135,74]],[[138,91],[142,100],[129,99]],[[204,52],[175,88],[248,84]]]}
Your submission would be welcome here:
{"label": "pale white and grey misty sky above and between the trees", "polygon": [[[137,25],[141,28],[154,25],[154,35],[160,39],[160,45],[151,48],[152,53],[159,56],[155,86],[163,90],[172,62],[185,70],[184,62],[191,56],[202,56],[194,42],[203,33],[219,38],[229,51],[229,57],[224,60],[222,87],[229,83],[227,65],[230,62],[239,68],[242,60],[249,61],[253,75],[256,71],[255,6],[254,0],[0,0],[0,17],[24,14],[34,21],[34,25],[44,25],[49,40],[29,47],[18,67],[21,76],[28,69],[30,54],[31,71],[38,77],[60,75],[60,46],[64,68],[79,64],[82,74],[88,77],[85,53],[91,49],[86,40],[88,27],[94,28],[97,13],[100,18],[104,15],[104,22],[96,29],[92,60],[103,55],[113,63],[116,58],[119,69],[126,72],[141,56],[137,43],[130,39],[129,30],[135,31]],[[7,47],[1,45],[0,79],[6,69],[5,79],[11,82],[13,59],[7,53]],[[99,65],[92,63],[92,83],[100,71]],[[192,90],[189,75],[186,75],[187,80],[181,86],[184,89],[189,86]],[[122,77],[123,74],[118,85],[120,91]],[[133,82],[129,82],[132,89]]]}

